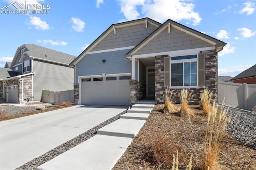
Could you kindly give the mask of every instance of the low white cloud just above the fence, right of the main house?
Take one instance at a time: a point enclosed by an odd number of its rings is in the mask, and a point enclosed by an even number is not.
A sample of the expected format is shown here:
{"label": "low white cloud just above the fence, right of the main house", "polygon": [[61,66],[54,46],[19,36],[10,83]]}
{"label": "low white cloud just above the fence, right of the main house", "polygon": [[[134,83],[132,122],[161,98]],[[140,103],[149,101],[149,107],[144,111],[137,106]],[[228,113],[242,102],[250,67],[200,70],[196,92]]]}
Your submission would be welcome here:
{"label": "low white cloud just above the fence, right of the main house", "polygon": [[244,70],[252,67],[252,65],[237,65],[227,68],[218,68],[218,75],[230,75],[232,77],[235,77],[236,75],[242,73]]}

